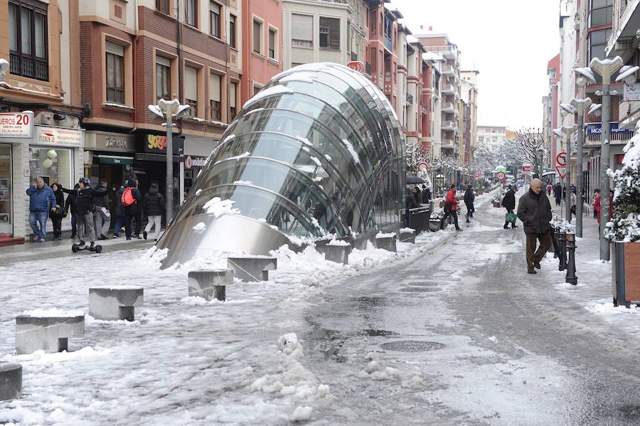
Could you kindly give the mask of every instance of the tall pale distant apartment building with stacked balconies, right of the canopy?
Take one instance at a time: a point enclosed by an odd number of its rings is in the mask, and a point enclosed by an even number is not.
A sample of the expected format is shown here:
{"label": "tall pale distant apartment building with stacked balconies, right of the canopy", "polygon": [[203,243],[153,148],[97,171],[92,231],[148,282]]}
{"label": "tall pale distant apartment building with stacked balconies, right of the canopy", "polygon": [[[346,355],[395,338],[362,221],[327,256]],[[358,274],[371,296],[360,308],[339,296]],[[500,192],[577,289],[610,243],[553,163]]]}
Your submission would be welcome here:
{"label": "tall pale distant apartment building with stacked balconies, right of the canopy", "polygon": [[440,149],[442,154],[457,159],[462,154],[458,105],[460,100],[460,51],[449,40],[447,34],[425,33],[415,37],[428,51],[437,53],[445,59],[440,70],[442,73],[440,86],[442,93],[442,145]]}

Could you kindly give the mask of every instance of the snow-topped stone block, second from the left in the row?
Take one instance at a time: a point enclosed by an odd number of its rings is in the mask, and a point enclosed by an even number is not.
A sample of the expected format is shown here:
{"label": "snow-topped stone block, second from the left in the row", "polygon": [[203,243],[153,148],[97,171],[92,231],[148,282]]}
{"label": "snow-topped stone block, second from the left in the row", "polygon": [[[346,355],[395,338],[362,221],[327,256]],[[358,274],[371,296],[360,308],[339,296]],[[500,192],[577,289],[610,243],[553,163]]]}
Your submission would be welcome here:
{"label": "snow-topped stone block, second from the left in the row", "polygon": [[84,314],[37,311],[16,316],[16,351],[19,354],[68,349],[68,339],[85,334]]}

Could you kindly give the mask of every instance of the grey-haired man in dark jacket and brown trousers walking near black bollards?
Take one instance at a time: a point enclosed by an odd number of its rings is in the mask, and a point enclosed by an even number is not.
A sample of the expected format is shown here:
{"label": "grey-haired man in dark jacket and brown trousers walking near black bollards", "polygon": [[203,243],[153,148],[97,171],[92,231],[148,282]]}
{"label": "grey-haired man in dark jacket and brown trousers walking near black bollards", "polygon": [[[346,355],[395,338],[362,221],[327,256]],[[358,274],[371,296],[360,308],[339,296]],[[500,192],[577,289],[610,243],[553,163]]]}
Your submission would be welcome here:
{"label": "grey-haired man in dark jacket and brown trousers walking near black bollards", "polygon": [[[535,274],[540,269],[540,260],[551,246],[551,205],[542,193],[542,181],[533,179],[529,191],[521,196],[518,203],[518,218],[522,220],[527,236],[527,272]],[[536,240],[540,247],[535,250]]]}

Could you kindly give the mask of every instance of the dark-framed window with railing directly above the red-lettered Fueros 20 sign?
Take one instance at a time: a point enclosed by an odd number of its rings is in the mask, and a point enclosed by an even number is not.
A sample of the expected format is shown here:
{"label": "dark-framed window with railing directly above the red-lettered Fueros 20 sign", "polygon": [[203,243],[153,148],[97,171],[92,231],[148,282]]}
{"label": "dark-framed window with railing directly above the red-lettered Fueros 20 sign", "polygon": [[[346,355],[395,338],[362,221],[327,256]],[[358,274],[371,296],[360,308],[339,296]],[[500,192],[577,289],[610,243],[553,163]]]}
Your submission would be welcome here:
{"label": "dark-framed window with railing directly above the red-lettered Fueros 20 sign", "polygon": [[11,74],[49,80],[46,8],[39,1],[9,2]]}

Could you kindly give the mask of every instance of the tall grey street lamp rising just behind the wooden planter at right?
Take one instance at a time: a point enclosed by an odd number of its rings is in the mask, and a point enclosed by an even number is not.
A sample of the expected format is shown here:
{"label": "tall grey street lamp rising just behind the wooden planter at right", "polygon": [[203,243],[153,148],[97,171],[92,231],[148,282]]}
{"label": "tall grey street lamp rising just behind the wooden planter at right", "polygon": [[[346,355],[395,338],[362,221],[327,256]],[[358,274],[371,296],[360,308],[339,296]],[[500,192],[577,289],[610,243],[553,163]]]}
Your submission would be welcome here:
{"label": "tall grey street lamp rising just behind the wooden planter at right", "polygon": [[[602,181],[600,185],[600,259],[609,260],[611,258],[609,241],[604,238],[604,226],[609,222],[609,175],[607,170],[609,169],[609,138],[611,133],[610,122],[610,108],[611,108],[611,95],[609,90],[611,83],[611,76],[622,68],[624,62],[622,58],[616,56],[613,59],[598,59],[593,58],[589,63],[589,67],[577,68],[581,71],[577,71],[581,76],[591,73],[593,71],[602,75],[602,136],[600,137],[600,164],[602,169]],[[623,77],[624,78],[624,77]],[[587,79],[589,80],[589,79]],[[592,79],[590,81],[594,81]]]}

